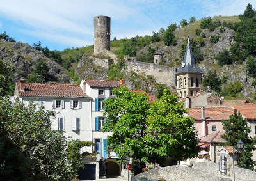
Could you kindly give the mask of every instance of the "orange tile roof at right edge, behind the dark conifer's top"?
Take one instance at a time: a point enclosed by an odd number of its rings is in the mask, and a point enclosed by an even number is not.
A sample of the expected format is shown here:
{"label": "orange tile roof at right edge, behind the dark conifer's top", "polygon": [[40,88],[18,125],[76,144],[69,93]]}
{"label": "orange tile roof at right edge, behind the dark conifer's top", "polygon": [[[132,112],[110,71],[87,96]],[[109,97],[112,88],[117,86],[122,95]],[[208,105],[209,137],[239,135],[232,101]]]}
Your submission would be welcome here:
{"label": "orange tile roof at right edge, behind the dark conifer's top", "polygon": [[246,119],[256,120],[256,106],[245,104],[243,106],[232,106],[234,109],[237,109]]}

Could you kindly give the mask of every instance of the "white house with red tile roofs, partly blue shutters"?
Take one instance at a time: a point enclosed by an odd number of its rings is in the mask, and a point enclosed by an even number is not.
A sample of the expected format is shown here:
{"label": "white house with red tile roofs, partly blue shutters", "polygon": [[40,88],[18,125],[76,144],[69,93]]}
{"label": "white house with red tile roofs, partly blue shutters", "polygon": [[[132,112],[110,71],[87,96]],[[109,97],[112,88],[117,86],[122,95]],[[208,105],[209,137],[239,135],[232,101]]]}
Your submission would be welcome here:
{"label": "white house with red tile roofs, partly blue shutters", "polygon": [[[113,88],[124,85],[124,79],[120,81],[86,80],[80,86],[70,84],[38,84],[26,83],[20,80],[15,86],[15,97],[26,105],[29,102],[37,102],[47,110],[55,111],[55,118],[52,119],[53,130],[63,130],[63,136],[67,139],[79,139],[81,141],[92,141],[93,148],[84,148],[83,152],[95,151],[99,158],[93,164],[96,177],[113,174],[112,170],[118,168],[120,175],[121,166],[117,164],[118,155],[111,152],[111,158],[107,150],[107,137],[111,132],[102,132],[104,125],[104,100],[113,98]],[[108,164],[107,164],[108,162]],[[108,167],[106,167],[109,165]]]}

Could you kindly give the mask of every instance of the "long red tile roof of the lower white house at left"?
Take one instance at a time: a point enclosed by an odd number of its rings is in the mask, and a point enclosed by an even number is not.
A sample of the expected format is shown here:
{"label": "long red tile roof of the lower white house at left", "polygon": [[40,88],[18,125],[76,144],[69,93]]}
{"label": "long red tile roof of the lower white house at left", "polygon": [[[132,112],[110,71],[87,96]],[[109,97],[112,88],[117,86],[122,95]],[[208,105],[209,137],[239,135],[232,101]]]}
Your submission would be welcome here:
{"label": "long red tile roof of the lower white house at left", "polygon": [[25,83],[24,91],[19,83],[16,87],[21,97],[87,97],[80,86],[70,84]]}

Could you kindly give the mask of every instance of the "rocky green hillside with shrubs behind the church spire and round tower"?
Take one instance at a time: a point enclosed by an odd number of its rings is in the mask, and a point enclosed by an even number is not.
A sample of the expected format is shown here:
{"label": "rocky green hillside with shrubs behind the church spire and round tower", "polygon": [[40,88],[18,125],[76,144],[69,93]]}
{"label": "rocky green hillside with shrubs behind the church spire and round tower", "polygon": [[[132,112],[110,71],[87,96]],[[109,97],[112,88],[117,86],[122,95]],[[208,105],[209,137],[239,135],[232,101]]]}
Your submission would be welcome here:
{"label": "rocky green hillside with shrubs behind the church spire and round tower", "polygon": [[[154,52],[159,50],[164,53],[162,65],[179,68],[189,37],[195,61],[205,72],[203,84],[205,89],[209,86],[213,92],[225,96],[226,99],[247,98],[253,100],[256,86],[255,14],[255,10],[248,4],[243,15],[205,17],[201,20],[191,17],[188,21],[182,20],[180,24],[174,23],[167,28],[160,28],[159,32],[153,32],[151,36],[135,36],[131,39],[121,40],[114,38],[111,41],[111,51],[118,57],[118,63],[109,67],[94,65],[88,58],[93,56],[93,46],[50,51],[38,42],[31,49],[35,49],[36,53],[41,54],[46,63],[49,59],[55,61],[65,75],[72,77],[70,83],[74,80],[78,84],[83,78],[119,79],[124,77],[130,88],[144,89],[159,95],[166,86],[157,83],[152,76],[127,72],[125,56],[128,55],[137,61],[152,63]],[[10,44],[12,47],[14,38],[11,38],[10,41],[8,40],[10,37],[4,36],[6,34],[0,36],[6,40],[0,43],[0,46]],[[109,57],[96,57],[109,59]],[[24,58],[29,59],[27,56]],[[84,62],[83,67],[77,66],[79,61]],[[10,62],[13,65],[12,61]],[[21,72],[31,81],[40,82],[42,80],[35,79],[38,74],[51,72],[50,67],[46,72],[36,72],[35,61],[32,64],[30,72],[26,72],[26,74]],[[14,79],[18,78],[19,76],[16,75]],[[47,81],[58,82],[58,79],[52,79],[49,76]]]}

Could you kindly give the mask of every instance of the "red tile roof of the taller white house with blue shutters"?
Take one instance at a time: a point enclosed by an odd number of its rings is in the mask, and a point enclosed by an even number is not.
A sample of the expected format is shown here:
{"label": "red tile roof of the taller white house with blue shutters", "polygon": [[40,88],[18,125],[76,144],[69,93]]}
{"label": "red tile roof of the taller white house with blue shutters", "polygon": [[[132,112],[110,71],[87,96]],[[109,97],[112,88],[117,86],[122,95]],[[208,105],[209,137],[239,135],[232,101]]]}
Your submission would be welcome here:
{"label": "red tile roof of the taller white house with blue shutters", "polygon": [[91,87],[100,87],[100,88],[119,88],[123,84],[120,84],[118,81],[112,80],[86,80],[84,84],[89,84]]}

